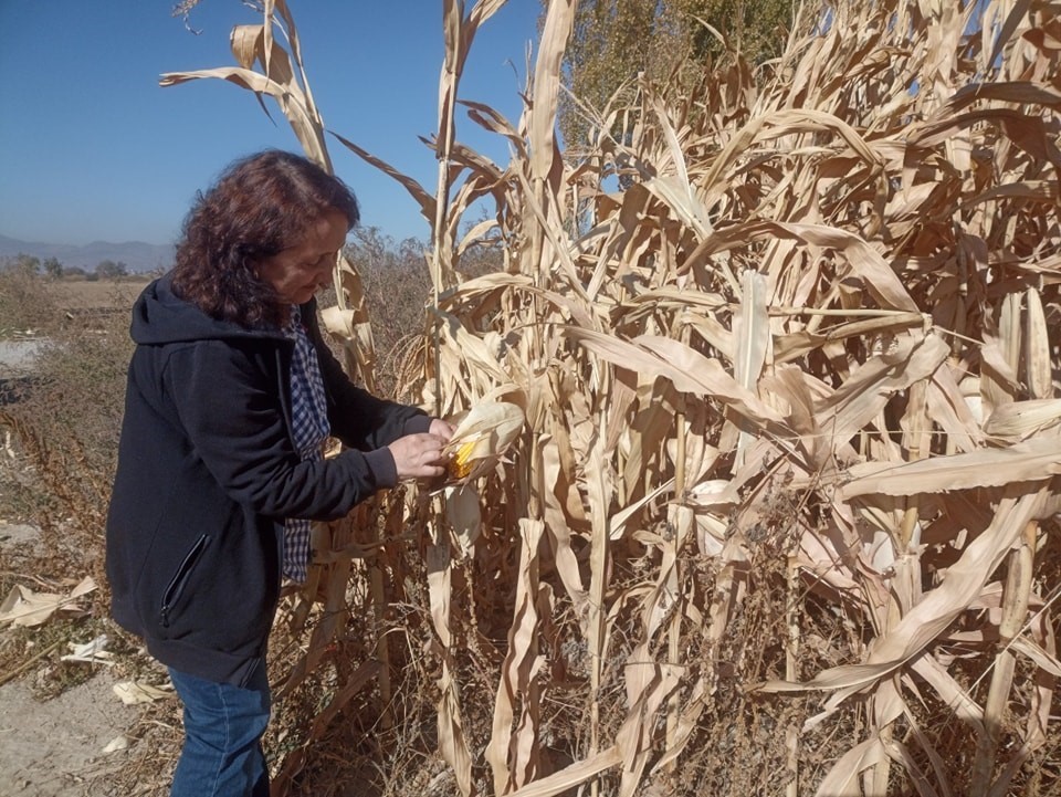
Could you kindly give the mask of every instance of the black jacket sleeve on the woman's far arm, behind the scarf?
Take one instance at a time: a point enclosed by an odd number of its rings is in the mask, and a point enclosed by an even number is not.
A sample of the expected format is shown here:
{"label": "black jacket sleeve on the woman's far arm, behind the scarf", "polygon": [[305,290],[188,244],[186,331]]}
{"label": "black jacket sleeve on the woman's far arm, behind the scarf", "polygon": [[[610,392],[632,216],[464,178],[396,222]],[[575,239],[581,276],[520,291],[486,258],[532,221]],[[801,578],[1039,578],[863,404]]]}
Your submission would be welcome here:
{"label": "black jacket sleeve on the woman's far arm, behind the scarf", "polygon": [[303,308],[303,318],[317,352],[328,396],[328,421],[335,437],[350,448],[372,451],[406,434],[428,431],[431,418],[423,410],[377,398],[350,381],[324,343],[315,304]]}

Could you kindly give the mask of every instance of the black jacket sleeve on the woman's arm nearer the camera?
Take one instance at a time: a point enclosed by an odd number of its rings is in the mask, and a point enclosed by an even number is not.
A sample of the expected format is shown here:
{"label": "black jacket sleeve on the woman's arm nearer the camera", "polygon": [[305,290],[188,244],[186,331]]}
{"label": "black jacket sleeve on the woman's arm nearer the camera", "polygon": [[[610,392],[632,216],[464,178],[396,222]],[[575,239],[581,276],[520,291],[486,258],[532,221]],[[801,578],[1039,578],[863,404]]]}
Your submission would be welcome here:
{"label": "black jacket sleeve on the woman's arm nearer the camera", "polygon": [[174,350],[166,391],[198,457],[238,503],[263,515],[336,520],[397,482],[386,449],[303,462],[282,402],[280,352],[201,340]]}

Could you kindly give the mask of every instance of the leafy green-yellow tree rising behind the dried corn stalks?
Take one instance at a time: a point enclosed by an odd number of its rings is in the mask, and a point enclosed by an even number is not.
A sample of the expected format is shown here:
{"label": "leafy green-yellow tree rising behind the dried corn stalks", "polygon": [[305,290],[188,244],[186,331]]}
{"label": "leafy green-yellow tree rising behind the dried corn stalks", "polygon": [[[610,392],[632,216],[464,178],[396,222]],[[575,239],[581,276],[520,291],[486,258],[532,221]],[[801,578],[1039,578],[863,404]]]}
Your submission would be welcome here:
{"label": "leafy green-yellow tree rising behind the dried corn stalks", "polygon": [[737,52],[753,64],[780,54],[792,9],[790,0],[582,0],[564,55],[566,147],[577,157],[595,126],[591,113],[624,86],[634,91],[639,74],[693,83]]}

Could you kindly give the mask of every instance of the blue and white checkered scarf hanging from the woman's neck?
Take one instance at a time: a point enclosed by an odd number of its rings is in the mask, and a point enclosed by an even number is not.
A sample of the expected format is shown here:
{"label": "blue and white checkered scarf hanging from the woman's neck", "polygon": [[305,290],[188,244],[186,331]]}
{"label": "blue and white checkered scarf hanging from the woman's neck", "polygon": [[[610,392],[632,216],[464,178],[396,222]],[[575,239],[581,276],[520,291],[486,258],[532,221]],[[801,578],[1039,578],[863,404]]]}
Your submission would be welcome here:
{"label": "blue and white checkered scarf hanging from the woman's neck", "polygon": [[[302,313],[292,306],[291,321],[284,335],[294,339],[295,352],[291,361],[291,419],[292,437],[298,447],[303,462],[323,459],[321,443],[332,431],[328,426],[327,400],[317,353],[309,343]],[[305,581],[309,565],[311,522],[302,517],[288,517],[284,522],[284,575],[294,581]]]}

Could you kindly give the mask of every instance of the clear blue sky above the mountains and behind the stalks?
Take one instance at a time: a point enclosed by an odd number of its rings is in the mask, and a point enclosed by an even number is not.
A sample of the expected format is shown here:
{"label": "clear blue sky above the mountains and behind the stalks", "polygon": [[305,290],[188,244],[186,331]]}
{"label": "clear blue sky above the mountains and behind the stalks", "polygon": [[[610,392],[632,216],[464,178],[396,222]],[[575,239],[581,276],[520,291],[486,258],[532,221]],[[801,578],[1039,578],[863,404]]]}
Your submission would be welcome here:
{"label": "clear blue sky above the mountains and behind the stalks", "polygon": [[[0,0],[0,234],[24,241],[170,243],[196,191],[263,147],[298,151],[276,105],[219,80],[162,88],[162,72],[234,65],[229,32],[261,18],[201,0],[190,33],[172,0]],[[468,9],[473,3],[469,1]],[[325,125],[434,192],[418,136],[438,126],[441,0],[288,0]],[[459,96],[521,111],[539,0],[508,0],[480,29]],[[533,62],[532,62],[533,63]],[[458,139],[504,165],[508,149],[463,112]],[[406,190],[335,139],[361,222],[426,239]]]}

